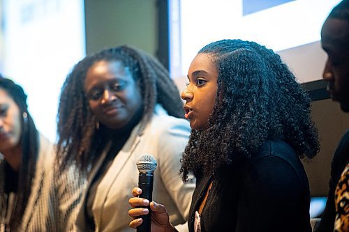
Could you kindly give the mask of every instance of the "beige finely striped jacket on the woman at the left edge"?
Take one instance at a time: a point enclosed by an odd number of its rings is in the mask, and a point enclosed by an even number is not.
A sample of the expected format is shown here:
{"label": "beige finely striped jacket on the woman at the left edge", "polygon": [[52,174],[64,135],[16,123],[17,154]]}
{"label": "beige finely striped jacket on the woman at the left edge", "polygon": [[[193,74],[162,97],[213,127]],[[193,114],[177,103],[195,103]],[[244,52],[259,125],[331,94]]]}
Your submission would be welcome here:
{"label": "beige finely striped jacket on the woman at the left edge", "polygon": [[[80,178],[75,166],[64,173],[54,167],[54,146],[40,136],[36,173],[32,180],[31,194],[22,217],[20,231],[74,231],[78,205],[86,180]],[[3,186],[4,158],[0,154],[0,186]],[[3,187],[1,187],[3,191]],[[0,191],[0,198],[3,192]],[[0,224],[0,231],[4,225]]]}

